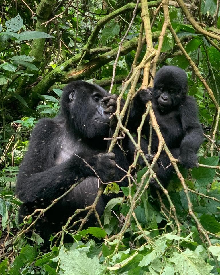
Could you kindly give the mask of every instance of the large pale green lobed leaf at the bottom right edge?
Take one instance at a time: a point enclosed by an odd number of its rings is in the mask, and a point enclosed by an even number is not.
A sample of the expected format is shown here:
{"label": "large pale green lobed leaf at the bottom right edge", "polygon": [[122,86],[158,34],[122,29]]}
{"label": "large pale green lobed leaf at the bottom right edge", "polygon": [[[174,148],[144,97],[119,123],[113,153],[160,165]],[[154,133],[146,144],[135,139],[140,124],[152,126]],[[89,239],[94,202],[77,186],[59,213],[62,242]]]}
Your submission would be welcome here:
{"label": "large pale green lobed leaf at the bottom right edge", "polygon": [[213,269],[200,258],[199,253],[188,248],[182,253],[174,252],[168,261],[174,263],[174,270],[181,275],[210,275]]}

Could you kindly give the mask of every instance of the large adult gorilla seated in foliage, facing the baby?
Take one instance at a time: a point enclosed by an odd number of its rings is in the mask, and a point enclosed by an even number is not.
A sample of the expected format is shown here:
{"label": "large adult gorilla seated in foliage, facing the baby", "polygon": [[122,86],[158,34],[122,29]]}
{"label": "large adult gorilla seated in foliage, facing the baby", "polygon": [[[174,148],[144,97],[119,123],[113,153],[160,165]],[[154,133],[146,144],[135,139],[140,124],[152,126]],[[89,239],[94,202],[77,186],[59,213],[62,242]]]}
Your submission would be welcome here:
{"label": "large adult gorilla seated in foliage, facing the baby", "polygon": [[[53,119],[41,119],[33,130],[17,178],[16,194],[23,202],[20,223],[25,215],[47,207],[72,184],[85,178],[37,222],[36,231],[46,246],[50,234],[61,230],[76,209],[91,205],[97,195],[98,178],[82,159],[103,182],[125,176],[125,172],[115,167],[115,162],[128,169],[127,159],[119,147],[115,147],[114,153],[105,153],[107,142],[103,138],[109,135],[110,114],[103,97],[108,95],[97,85],[71,82],[64,88],[60,114]],[[120,184],[127,185],[126,179]],[[110,198],[101,196],[96,208],[99,215]]]}

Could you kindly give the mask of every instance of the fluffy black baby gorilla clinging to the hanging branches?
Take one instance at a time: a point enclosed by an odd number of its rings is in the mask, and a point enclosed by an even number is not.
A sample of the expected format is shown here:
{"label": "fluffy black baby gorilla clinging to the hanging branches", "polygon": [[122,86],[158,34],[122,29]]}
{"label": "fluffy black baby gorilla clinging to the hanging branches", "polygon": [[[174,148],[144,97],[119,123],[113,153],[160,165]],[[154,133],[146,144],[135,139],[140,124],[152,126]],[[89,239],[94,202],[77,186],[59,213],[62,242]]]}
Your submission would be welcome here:
{"label": "fluffy black baby gorilla clinging to the hanging branches", "polygon": [[[203,141],[203,131],[198,119],[198,108],[193,97],[187,95],[187,76],[184,70],[175,66],[164,66],[155,75],[153,89],[143,89],[137,93],[131,111],[129,127],[136,131],[145,104],[152,100],[152,107],[164,140],[172,155],[179,159],[185,168],[198,165],[197,151]],[[142,133],[149,140],[149,115],[142,128]],[[152,154],[158,150],[158,137],[153,131]],[[153,155],[147,155],[152,160]],[[158,159],[158,180],[166,188],[173,166],[164,151]],[[160,189],[152,178],[151,190]]]}

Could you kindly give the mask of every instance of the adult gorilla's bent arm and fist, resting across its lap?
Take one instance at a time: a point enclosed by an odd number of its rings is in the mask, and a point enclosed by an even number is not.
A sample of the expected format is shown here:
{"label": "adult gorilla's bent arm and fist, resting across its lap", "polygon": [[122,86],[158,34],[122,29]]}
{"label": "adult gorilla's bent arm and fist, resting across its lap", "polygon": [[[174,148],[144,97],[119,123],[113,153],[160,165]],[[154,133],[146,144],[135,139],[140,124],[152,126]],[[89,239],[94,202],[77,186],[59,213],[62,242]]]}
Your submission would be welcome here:
{"label": "adult gorilla's bent arm and fist, resting across its lap", "polygon": [[[59,126],[52,119],[41,120],[33,131],[29,150],[17,179],[16,193],[24,203],[50,202],[80,178],[95,175],[93,170],[75,155],[59,165],[55,164],[59,131]],[[108,182],[114,175],[113,153],[80,157],[93,166],[103,182]]]}

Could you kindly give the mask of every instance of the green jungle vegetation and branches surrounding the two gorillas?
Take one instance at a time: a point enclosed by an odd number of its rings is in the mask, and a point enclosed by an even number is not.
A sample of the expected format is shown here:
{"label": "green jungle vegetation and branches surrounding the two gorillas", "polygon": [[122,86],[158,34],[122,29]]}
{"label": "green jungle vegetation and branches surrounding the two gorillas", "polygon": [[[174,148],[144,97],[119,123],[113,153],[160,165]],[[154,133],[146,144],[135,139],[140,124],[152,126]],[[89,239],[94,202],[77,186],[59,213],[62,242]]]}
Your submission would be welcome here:
{"label": "green jungle vegetation and branches surrounding the two gorillas", "polygon": [[[0,274],[220,274],[219,0],[0,4]],[[40,236],[24,234],[32,217],[19,227],[21,202],[14,197],[32,128],[57,114],[62,88],[72,80],[101,85],[128,107],[164,65],[186,71],[188,94],[197,100],[204,129],[199,168],[177,165],[149,102],[152,126],[177,172],[168,192],[150,195],[152,170],[145,167],[123,188],[124,197],[108,203],[97,227],[76,232],[66,224],[56,246],[41,252]],[[119,104],[115,115],[114,135],[129,135]],[[117,193],[117,184],[112,189]],[[66,232],[72,243],[64,246]]]}

